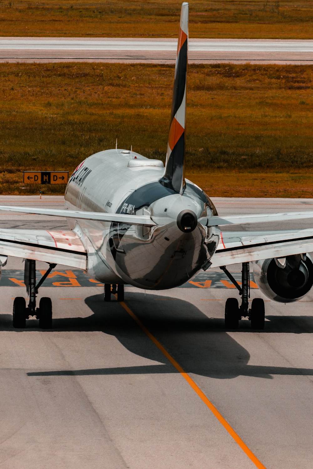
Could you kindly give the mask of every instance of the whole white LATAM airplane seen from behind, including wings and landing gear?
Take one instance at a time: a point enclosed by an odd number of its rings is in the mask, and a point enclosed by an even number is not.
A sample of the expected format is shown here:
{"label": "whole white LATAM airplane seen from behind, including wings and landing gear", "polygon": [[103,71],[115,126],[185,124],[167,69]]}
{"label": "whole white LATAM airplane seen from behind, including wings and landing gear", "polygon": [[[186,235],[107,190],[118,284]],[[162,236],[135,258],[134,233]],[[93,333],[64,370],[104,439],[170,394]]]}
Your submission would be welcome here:
{"label": "whole white LATAM airplane seen from behind, including wings and landing gear", "polygon": [[[66,217],[69,230],[0,229],[0,266],[8,256],[25,259],[24,297],[13,303],[13,326],[36,317],[50,329],[52,302],[38,288],[57,265],[82,269],[104,284],[104,301],[124,299],[124,285],[150,290],[178,287],[199,271],[220,267],[239,290],[225,304],[225,327],[237,329],[248,318],[262,330],[262,298],[249,303],[250,265],[260,291],[281,303],[297,301],[313,285],[313,230],[239,232],[224,226],[313,218],[313,212],[218,215],[210,198],[185,178],[188,13],[183,2],[177,44],[173,100],[165,166],[132,150],[99,151],[71,175],[65,210],[0,206],[9,212]],[[116,145],[117,146],[117,145]],[[265,225],[266,226],[266,225]],[[49,265],[36,283],[36,261]],[[242,265],[241,286],[226,268]]]}

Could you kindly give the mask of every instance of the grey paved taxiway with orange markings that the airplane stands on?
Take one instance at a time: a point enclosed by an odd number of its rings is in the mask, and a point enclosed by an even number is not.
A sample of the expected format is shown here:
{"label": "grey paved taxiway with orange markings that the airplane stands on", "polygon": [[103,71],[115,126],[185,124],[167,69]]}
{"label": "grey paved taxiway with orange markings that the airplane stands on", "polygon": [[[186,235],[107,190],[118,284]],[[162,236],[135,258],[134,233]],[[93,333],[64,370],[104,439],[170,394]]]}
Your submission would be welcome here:
{"label": "grey paved taxiway with orange markings that the airplane stands on", "polygon": [[[213,201],[221,215],[313,210],[313,199]],[[0,203],[61,208],[63,197]],[[37,215],[0,220],[3,228],[66,227]],[[39,278],[46,264],[37,269]],[[238,276],[240,266],[229,270]],[[52,298],[53,330],[36,320],[15,330],[13,298],[25,288],[22,260],[10,257],[0,280],[0,467],[311,468],[313,295],[267,301],[264,332],[245,320],[225,332],[225,300],[236,296],[225,280],[216,269],[173,290],[125,287],[125,308],[104,303],[103,286],[83,272],[58,265],[38,295]],[[260,296],[253,286],[251,296]]]}

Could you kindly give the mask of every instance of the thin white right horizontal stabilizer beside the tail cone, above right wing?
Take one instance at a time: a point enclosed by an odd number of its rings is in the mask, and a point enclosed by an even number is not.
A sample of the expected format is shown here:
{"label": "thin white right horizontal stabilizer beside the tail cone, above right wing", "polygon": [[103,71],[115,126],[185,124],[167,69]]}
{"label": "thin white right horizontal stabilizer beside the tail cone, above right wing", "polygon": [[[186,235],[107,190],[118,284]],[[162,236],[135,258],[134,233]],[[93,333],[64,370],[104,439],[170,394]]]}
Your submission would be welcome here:
{"label": "thin white right horizontal stabilizer beside the tail cone, above right wing", "polygon": [[207,226],[244,225],[246,223],[269,223],[271,221],[287,221],[313,218],[313,212],[286,212],[286,213],[253,213],[251,215],[225,215],[224,217],[211,217]]}

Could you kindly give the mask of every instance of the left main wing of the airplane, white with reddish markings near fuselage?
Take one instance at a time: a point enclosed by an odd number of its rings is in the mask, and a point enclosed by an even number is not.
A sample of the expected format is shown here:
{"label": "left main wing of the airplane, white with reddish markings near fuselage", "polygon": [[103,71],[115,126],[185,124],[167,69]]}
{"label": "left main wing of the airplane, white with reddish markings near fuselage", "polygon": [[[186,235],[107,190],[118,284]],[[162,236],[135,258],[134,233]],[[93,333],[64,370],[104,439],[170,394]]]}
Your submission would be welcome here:
{"label": "left main wing of the airplane, white with reddish markings near fuselage", "polygon": [[0,256],[87,267],[86,250],[73,231],[0,229]]}

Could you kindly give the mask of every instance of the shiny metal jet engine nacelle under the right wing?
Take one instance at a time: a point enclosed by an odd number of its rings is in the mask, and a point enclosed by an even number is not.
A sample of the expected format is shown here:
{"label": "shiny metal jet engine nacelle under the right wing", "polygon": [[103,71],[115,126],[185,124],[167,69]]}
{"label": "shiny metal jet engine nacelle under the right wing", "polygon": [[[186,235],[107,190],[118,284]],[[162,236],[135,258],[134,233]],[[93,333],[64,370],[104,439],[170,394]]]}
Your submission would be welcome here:
{"label": "shiny metal jet engine nacelle under the right wing", "polygon": [[252,262],[254,280],[270,300],[300,300],[313,285],[313,261],[308,254]]}

